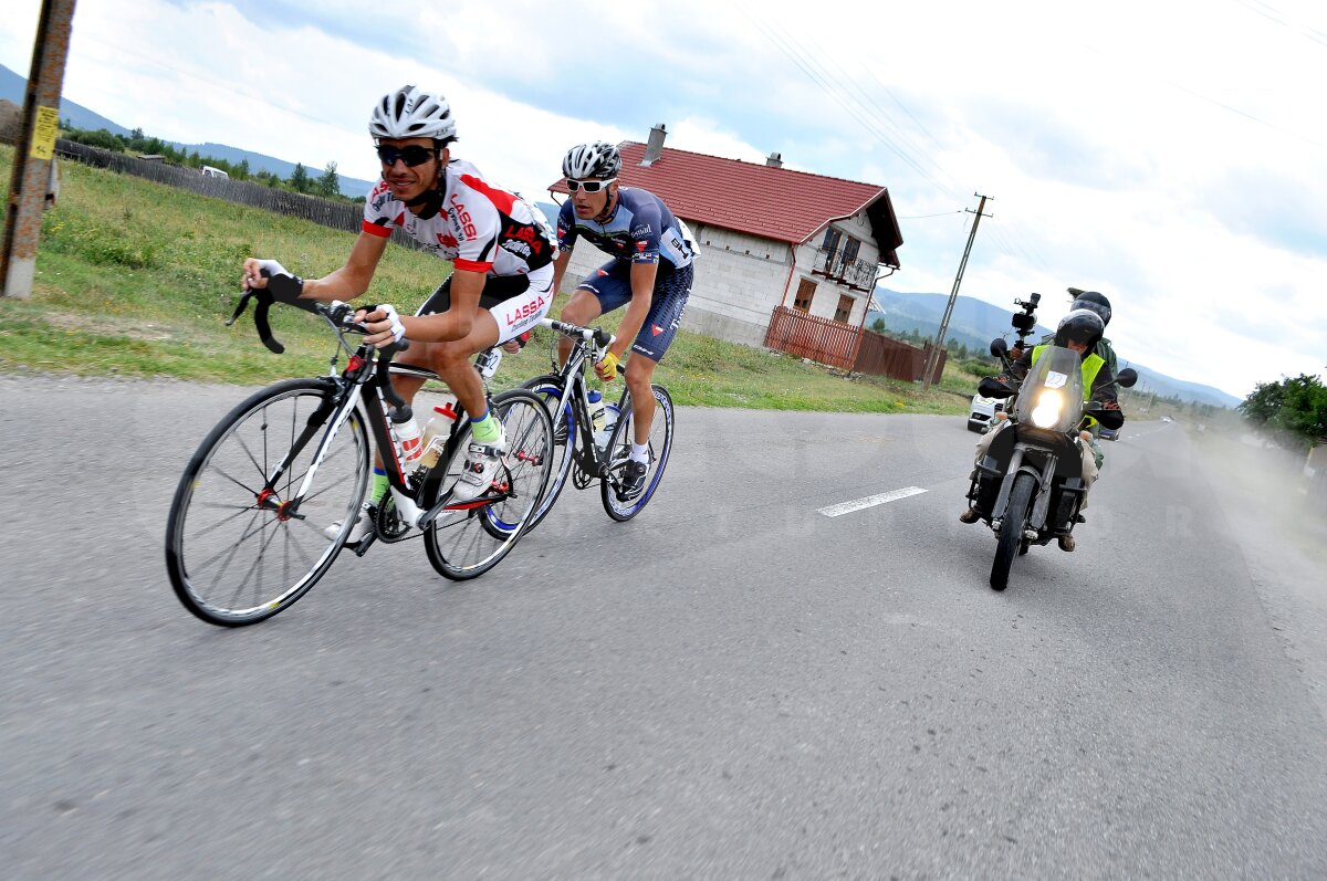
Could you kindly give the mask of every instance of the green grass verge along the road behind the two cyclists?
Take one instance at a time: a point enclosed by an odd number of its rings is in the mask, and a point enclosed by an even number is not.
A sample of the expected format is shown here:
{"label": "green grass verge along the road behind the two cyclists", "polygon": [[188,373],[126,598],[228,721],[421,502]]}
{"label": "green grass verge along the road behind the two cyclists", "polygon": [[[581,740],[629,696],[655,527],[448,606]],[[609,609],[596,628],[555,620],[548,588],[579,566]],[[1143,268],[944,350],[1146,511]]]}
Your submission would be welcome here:
{"label": "green grass verge along the road behind the two cyclists", "polygon": [[[0,179],[9,179],[12,159],[13,149],[0,145]],[[325,373],[330,337],[308,314],[272,310],[284,356],[263,348],[251,316],[234,328],[224,321],[244,257],[276,257],[317,277],[340,267],[353,241],[349,232],[61,163],[60,204],[42,220],[33,296],[0,299],[0,370],[247,385]],[[425,253],[387,248],[366,300],[414,310],[450,271]],[[602,324],[616,329],[620,317]],[[547,352],[544,336],[508,356],[495,387],[544,372]],[[912,382],[843,377],[683,330],[656,375],[682,405],[955,414],[966,413],[973,369],[949,365],[943,381],[922,393]]]}

